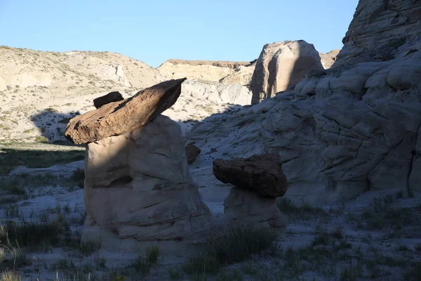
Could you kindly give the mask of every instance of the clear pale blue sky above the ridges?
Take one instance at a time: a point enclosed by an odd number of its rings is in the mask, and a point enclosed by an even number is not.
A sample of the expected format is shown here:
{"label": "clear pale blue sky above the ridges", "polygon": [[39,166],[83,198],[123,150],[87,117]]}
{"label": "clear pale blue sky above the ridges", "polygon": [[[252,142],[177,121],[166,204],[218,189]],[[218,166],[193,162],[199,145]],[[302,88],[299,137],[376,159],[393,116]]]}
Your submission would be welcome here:
{"label": "clear pale blue sky above the ridges", "polygon": [[304,39],[342,48],[358,0],[0,0],[0,45],[112,51],[153,67],[170,58],[258,58],[262,46]]}

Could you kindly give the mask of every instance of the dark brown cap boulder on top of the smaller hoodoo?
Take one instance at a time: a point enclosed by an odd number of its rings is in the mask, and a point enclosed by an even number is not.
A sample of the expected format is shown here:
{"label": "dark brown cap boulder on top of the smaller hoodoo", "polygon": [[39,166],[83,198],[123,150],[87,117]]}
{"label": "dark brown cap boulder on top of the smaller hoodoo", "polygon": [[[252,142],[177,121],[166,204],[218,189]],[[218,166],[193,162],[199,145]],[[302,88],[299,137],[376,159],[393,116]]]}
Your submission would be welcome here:
{"label": "dark brown cap boulder on top of the smaller hoodoo", "polygon": [[222,183],[255,191],[262,197],[281,197],[288,184],[277,154],[253,155],[248,158],[213,160],[213,174]]}

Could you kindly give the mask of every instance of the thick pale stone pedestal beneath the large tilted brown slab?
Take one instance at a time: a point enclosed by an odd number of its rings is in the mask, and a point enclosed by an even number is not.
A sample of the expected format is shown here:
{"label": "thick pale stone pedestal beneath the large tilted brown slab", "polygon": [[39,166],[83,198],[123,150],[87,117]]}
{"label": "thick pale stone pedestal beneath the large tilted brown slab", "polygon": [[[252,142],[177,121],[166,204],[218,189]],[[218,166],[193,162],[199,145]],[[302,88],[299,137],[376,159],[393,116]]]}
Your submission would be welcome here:
{"label": "thick pale stone pedestal beneath the large tilted brown slab", "polygon": [[102,235],[103,248],[128,250],[123,244],[133,241],[177,248],[209,233],[210,213],[189,176],[180,126],[168,117],[88,143],[85,174],[84,235]]}

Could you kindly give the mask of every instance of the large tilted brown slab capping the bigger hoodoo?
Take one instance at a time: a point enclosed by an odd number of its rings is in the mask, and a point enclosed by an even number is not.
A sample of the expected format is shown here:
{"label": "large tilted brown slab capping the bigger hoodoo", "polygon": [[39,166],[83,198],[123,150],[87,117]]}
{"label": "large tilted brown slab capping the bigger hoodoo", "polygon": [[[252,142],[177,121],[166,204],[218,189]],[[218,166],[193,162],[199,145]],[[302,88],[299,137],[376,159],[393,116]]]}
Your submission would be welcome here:
{"label": "large tilted brown slab capping the bigger hoodoo", "polygon": [[145,126],[175,103],[185,79],[163,81],[131,98],[78,115],[67,124],[65,137],[76,145],[92,143]]}

